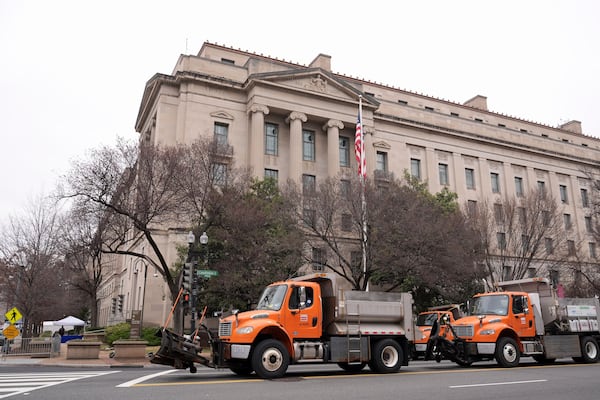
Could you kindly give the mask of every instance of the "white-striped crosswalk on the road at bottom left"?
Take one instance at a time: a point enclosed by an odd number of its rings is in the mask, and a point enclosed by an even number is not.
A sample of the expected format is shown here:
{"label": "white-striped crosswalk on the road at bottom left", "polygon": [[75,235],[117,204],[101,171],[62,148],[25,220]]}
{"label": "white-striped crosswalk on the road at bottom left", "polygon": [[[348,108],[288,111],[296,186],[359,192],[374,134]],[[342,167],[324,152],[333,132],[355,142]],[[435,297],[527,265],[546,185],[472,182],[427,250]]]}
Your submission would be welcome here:
{"label": "white-striped crosswalk on the road at bottom left", "polygon": [[33,390],[60,385],[78,379],[114,374],[118,371],[49,372],[31,374],[0,374],[0,399]]}

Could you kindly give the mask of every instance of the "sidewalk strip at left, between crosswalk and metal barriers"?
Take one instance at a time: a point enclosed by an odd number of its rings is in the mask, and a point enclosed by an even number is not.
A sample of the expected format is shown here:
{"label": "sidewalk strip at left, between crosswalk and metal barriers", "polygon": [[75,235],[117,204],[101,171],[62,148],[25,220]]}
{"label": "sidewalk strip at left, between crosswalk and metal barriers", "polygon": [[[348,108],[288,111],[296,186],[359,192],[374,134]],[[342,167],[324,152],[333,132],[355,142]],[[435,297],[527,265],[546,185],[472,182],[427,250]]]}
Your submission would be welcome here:
{"label": "sidewalk strip at left, between crosswalk and metal barriers", "polygon": [[96,359],[67,359],[67,345],[60,345],[60,353],[53,357],[2,357],[0,367],[6,365],[49,365],[62,367],[93,367],[93,368],[159,368],[150,363],[149,357],[144,358],[111,358],[109,350],[100,350]]}

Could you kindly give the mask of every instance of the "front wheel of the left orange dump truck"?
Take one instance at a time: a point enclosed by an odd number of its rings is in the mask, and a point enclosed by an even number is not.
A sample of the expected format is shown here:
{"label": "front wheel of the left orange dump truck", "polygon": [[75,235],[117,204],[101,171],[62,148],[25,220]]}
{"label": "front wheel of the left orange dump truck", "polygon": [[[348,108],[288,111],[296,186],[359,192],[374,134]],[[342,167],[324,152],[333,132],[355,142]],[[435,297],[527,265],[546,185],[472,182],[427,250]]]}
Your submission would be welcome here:
{"label": "front wheel of the left orange dump truck", "polygon": [[266,339],[252,352],[252,368],[263,379],[281,378],[290,364],[290,356],[280,341]]}

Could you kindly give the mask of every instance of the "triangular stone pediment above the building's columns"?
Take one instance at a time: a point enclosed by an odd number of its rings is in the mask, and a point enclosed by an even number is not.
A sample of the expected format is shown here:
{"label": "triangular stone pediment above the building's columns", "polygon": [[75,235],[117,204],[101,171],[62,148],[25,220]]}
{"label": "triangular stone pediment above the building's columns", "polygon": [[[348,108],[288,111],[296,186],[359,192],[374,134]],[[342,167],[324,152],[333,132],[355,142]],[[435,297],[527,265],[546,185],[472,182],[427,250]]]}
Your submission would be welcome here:
{"label": "triangular stone pediment above the building's columns", "polygon": [[[250,77],[255,82],[270,83],[305,92],[313,92],[342,100],[356,101],[362,94],[358,89],[338,80],[320,68],[284,73],[265,73]],[[363,98],[363,103],[365,99]]]}

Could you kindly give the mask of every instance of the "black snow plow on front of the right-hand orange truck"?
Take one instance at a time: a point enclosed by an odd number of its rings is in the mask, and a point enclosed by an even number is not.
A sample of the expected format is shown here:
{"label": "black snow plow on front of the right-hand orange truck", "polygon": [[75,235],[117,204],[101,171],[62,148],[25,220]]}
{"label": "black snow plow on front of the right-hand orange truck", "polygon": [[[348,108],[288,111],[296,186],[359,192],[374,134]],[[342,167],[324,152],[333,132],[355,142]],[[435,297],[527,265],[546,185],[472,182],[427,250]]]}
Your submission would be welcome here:
{"label": "black snow plow on front of the right-hand orange truck", "polygon": [[460,366],[467,367],[473,363],[473,360],[469,356],[469,349],[467,342],[458,337],[451,325],[447,325],[452,332],[453,340],[448,340],[443,336],[440,336],[439,323],[435,321],[431,326],[431,334],[427,341],[427,348],[425,350],[425,360],[450,360]]}

